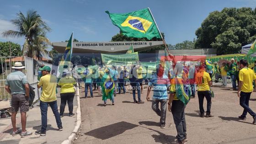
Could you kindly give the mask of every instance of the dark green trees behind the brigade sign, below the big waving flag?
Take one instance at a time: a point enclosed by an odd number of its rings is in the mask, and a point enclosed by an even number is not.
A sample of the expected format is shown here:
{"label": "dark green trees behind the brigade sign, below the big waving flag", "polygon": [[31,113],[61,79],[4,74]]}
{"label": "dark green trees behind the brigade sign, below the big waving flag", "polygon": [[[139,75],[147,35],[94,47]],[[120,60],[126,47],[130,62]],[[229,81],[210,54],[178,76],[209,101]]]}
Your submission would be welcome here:
{"label": "dark green trees behind the brigade sign, below the big waving flag", "polygon": [[[165,34],[161,32],[163,38],[165,39]],[[111,42],[125,42],[125,41],[162,41],[161,38],[155,38],[148,40],[147,38],[136,38],[136,37],[127,37],[123,35],[121,32],[117,33],[115,36],[112,37]],[[165,46],[157,46],[154,48],[149,48],[147,50],[140,51],[139,53],[152,53],[155,52],[155,50],[163,50],[165,49]]]}

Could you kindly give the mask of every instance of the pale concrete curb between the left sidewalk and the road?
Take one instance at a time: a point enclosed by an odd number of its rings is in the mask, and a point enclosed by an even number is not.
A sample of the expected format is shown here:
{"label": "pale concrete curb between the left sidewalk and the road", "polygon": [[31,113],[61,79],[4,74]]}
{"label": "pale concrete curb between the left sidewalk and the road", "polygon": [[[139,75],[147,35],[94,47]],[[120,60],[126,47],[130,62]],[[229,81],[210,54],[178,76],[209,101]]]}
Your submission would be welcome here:
{"label": "pale concrete curb between the left sidewalk and the road", "polygon": [[76,125],[73,130],[73,132],[70,134],[69,138],[64,140],[61,144],[71,144],[75,136],[78,134],[81,126],[81,109],[80,109],[80,95],[79,95],[79,89],[77,89],[78,95],[77,95],[77,108],[76,108]]}

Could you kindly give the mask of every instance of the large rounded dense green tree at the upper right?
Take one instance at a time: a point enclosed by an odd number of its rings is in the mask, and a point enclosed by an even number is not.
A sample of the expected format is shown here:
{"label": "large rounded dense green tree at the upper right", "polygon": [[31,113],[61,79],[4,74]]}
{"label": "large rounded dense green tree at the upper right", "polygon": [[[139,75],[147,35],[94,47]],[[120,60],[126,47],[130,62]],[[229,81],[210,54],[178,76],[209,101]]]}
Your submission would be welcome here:
{"label": "large rounded dense green tree at the upper right", "polygon": [[196,48],[216,48],[217,55],[239,53],[256,39],[256,9],[224,8],[213,11],[196,30]]}

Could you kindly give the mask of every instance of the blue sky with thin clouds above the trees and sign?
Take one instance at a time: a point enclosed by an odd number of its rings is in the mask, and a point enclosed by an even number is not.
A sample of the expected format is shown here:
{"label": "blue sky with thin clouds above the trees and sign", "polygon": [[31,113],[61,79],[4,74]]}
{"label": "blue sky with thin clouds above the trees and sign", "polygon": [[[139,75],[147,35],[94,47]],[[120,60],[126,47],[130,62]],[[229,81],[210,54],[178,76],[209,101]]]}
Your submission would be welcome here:
{"label": "blue sky with thin clouds above the trees and sign", "polygon": [[[168,44],[196,38],[195,31],[212,11],[224,7],[256,7],[256,0],[3,0],[0,5],[0,33],[15,30],[10,20],[16,13],[35,10],[52,29],[51,42],[74,38],[83,42],[107,42],[119,33],[105,13],[127,13],[149,7]],[[6,38],[23,45],[24,37]]]}

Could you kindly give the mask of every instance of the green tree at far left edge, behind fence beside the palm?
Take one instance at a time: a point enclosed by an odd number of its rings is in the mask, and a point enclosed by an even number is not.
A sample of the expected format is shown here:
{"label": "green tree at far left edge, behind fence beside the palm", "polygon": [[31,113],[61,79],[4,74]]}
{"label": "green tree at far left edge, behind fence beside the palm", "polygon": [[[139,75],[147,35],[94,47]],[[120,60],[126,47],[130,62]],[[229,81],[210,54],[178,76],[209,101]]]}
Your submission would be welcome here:
{"label": "green tree at far left edge, behind fence beside the palm", "polygon": [[12,42],[0,42],[0,56],[9,57],[10,56],[10,43],[11,43],[11,56],[21,56],[21,45]]}

